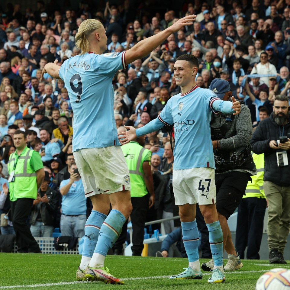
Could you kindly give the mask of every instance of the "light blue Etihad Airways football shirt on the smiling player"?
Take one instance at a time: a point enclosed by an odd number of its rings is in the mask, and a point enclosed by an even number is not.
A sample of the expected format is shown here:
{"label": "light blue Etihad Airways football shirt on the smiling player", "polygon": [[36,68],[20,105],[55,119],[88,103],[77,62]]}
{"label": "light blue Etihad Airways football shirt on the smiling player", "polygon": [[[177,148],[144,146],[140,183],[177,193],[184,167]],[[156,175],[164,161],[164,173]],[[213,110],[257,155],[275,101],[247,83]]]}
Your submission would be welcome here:
{"label": "light blue Etihad Airways football shirt on the smiling player", "polygon": [[222,101],[209,89],[195,85],[188,93],[175,95],[155,120],[136,130],[137,136],[174,124],[173,169],[215,168],[211,142],[213,111],[233,113],[232,102]]}

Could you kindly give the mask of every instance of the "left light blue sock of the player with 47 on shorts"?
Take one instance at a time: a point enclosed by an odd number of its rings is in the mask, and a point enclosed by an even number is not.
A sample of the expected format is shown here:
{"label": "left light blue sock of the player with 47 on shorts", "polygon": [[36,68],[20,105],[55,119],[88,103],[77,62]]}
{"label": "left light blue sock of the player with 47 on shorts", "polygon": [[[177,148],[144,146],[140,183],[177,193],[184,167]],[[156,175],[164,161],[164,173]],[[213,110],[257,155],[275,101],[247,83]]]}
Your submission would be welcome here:
{"label": "left light blue sock of the player with 47 on shorts", "polygon": [[188,262],[195,262],[199,259],[199,234],[196,220],[189,223],[181,223],[181,230],[182,240],[188,257]]}

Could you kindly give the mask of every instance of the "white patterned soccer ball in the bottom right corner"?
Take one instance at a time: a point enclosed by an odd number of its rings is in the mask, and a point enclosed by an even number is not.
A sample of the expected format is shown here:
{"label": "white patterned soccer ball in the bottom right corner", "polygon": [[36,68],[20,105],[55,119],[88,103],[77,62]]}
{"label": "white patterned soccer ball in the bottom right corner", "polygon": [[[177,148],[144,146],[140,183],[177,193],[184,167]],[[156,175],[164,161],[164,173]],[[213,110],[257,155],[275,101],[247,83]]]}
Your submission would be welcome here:
{"label": "white patterned soccer ball in the bottom right corner", "polygon": [[290,290],[290,270],[271,269],[258,279],[255,290]]}

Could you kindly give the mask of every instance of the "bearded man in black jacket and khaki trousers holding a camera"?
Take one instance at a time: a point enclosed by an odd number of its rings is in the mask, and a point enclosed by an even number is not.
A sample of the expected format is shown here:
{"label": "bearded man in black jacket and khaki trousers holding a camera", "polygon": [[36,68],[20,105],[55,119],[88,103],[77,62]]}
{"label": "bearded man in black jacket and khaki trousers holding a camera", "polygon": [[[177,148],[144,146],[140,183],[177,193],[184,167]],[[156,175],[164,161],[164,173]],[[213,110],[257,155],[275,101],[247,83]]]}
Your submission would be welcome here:
{"label": "bearded man in black jacket and khaki trousers holding a camera", "polygon": [[273,112],[260,122],[251,145],[256,154],[264,153],[264,192],[269,202],[269,263],[286,264],[283,257],[290,228],[290,123],[289,100],[277,95]]}

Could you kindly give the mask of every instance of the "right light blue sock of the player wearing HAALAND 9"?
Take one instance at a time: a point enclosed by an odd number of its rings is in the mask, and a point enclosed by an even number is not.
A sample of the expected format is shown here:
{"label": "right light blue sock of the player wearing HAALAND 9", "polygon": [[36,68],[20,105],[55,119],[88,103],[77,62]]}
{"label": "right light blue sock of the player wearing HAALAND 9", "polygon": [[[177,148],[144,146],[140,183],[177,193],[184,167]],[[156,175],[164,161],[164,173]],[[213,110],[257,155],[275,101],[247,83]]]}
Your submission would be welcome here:
{"label": "right light blue sock of the player wearing HAALAND 9", "polygon": [[101,226],[95,253],[103,256],[107,255],[109,248],[114,246],[114,243],[121,234],[125,221],[126,218],[121,211],[116,209],[111,210]]}

